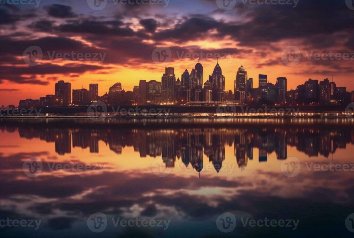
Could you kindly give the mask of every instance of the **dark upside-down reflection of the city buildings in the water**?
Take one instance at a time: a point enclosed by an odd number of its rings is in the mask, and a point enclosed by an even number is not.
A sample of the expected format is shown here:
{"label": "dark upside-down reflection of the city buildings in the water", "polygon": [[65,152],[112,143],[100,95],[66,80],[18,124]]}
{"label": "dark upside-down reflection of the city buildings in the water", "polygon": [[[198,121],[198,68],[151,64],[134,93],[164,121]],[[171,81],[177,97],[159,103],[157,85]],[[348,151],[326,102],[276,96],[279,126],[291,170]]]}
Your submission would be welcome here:
{"label": "dark upside-down reflection of the city buildings in the water", "polygon": [[75,147],[99,153],[99,141],[116,154],[122,154],[125,147],[133,147],[141,158],[168,158],[167,165],[172,168],[176,159],[182,159],[185,166],[198,165],[203,154],[213,164],[222,164],[225,146],[232,145],[239,168],[244,169],[247,161],[253,160],[254,148],[258,148],[259,162],[267,162],[267,155],[273,152],[277,159],[286,159],[287,146],[295,147],[309,157],[322,155],[327,158],[337,148],[354,143],[351,128],[64,129],[2,126],[1,130],[18,131],[21,138],[54,142],[59,155],[70,154]]}

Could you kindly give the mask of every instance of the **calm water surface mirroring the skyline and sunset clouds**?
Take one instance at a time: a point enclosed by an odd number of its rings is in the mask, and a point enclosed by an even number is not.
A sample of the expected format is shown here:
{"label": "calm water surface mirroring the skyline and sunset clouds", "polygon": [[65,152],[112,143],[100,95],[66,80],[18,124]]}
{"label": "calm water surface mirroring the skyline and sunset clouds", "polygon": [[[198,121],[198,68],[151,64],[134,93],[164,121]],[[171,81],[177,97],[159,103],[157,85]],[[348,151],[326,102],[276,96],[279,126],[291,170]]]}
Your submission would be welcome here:
{"label": "calm water surface mirroring the skyline and sunset clouds", "polygon": [[[0,227],[0,237],[353,236],[348,119],[0,122],[0,220],[41,220],[38,229]],[[225,212],[235,219],[222,224]],[[100,221],[107,227],[92,232]]]}

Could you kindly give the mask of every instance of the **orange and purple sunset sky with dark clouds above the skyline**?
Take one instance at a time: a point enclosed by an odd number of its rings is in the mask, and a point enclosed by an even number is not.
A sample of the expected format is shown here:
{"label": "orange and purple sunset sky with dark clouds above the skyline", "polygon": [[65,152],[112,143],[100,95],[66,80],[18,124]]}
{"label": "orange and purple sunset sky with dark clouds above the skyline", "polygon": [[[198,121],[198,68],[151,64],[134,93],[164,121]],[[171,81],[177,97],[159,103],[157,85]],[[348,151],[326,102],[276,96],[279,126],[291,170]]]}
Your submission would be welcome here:
{"label": "orange and purple sunset sky with dark clouds above the skyline", "polygon": [[[89,0],[90,1],[90,0]],[[115,4],[93,10],[87,0],[41,0],[34,5],[0,5],[0,106],[25,98],[54,94],[58,80],[72,89],[99,84],[99,95],[121,82],[132,91],[140,79],[161,81],[164,67],[175,67],[176,79],[198,62],[185,53],[217,53],[225,75],[226,90],[233,90],[241,64],[258,85],[258,74],[268,80],[287,77],[287,89],[296,89],[309,78],[333,79],[337,86],[354,90],[354,10],[345,0],[299,0],[291,5],[252,5],[238,0],[229,11],[216,0],[162,0],[159,4]],[[4,0],[0,0],[4,3]],[[12,1],[6,0],[11,3]],[[37,0],[38,2],[38,0]],[[135,0],[140,3],[141,0]],[[354,7],[353,7],[354,9]],[[24,51],[39,46],[43,60],[28,66]],[[156,47],[169,47],[169,64],[155,64]],[[295,66],[281,61],[285,47],[297,46],[301,60]],[[101,53],[102,63],[84,60],[51,60],[55,53]],[[344,53],[353,60],[308,60],[313,53]],[[216,57],[201,58],[204,82]]]}

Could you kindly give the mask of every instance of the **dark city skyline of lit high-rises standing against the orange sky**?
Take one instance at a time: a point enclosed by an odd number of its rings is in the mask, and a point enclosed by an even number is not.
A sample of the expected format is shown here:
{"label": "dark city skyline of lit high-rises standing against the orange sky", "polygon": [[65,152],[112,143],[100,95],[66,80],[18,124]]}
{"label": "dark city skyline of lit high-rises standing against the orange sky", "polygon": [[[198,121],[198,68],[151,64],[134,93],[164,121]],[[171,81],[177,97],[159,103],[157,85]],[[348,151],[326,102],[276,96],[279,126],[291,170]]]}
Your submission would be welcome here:
{"label": "dark city skyline of lit high-rises standing against the orange sky", "polygon": [[[206,81],[203,80],[202,72],[203,66],[199,58],[190,73],[188,69],[185,69],[181,79],[176,77],[175,68],[165,67],[160,81],[139,80],[139,85],[133,86],[132,91],[124,90],[124,85],[118,82],[109,87],[109,90],[102,96],[98,94],[99,84],[90,84],[89,90],[85,89],[84,85],[81,89],[71,90],[70,83],[60,80],[55,84],[55,94],[47,94],[39,100],[32,98],[20,100],[18,107],[88,106],[98,101],[114,106],[148,104],[190,106],[189,102],[317,106],[347,105],[354,101],[354,91],[348,92],[346,87],[336,85],[336,82],[328,78],[322,81],[308,79],[303,84],[297,85],[296,89],[287,90],[286,77],[277,77],[276,83],[272,84],[268,80],[268,75],[259,74],[257,87],[253,84],[253,77],[248,78],[246,68],[241,65],[234,79],[234,90],[225,90],[226,79],[218,60]],[[16,107],[9,106],[10,108]]]}

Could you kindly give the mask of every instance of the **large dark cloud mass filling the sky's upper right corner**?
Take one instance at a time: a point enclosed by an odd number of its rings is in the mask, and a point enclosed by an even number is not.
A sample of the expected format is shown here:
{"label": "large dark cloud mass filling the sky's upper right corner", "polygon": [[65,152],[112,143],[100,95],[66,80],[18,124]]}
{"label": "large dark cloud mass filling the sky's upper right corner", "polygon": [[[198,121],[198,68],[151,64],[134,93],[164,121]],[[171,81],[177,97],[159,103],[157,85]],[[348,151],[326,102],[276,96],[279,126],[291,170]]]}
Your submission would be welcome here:
{"label": "large dark cloud mass filling the sky's upper right corner", "polygon": [[[299,1],[298,6],[261,5],[250,7],[241,5],[238,13],[246,14],[250,21],[244,24],[222,24],[218,35],[230,35],[240,41],[240,45],[257,46],[283,39],[315,38],[313,47],[326,47],[334,44],[326,40],[335,32],[352,31],[354,15],[344,1]],[[322,34],[322,35],[321,35]]]}

